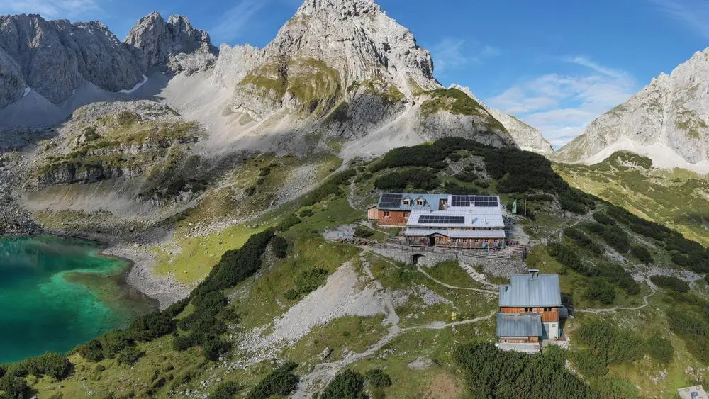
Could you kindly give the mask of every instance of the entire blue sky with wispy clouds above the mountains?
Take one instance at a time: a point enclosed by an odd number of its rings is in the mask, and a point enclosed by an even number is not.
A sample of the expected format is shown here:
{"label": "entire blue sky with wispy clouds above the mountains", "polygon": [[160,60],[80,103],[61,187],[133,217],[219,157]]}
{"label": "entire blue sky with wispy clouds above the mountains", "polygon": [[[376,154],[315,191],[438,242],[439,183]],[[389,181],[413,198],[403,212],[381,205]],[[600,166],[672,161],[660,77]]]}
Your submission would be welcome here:
{"label": "entire blue sky with wispy clouds above the mountains", "polygon": [[[266,45],[300,0],[0,0],[0,13],[99,19],[123,38],[141,16],[189,17],[213,42]],[[555,147],[660,72],[709,46],[709,0],[379,0],[432,52],[442,84],[533,125]]]}

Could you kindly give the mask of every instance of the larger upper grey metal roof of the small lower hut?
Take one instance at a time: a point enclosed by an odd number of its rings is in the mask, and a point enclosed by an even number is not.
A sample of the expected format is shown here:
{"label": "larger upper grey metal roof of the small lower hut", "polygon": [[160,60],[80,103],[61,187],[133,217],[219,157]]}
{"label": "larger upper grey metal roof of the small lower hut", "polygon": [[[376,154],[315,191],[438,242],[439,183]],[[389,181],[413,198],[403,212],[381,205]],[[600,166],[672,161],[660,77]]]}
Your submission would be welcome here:
{"label": "larger upper grey metal roof of the small lower hut", "polygon": [[558,274],[515,274],[500,286],[500,307],[545,308],[562,305]]}

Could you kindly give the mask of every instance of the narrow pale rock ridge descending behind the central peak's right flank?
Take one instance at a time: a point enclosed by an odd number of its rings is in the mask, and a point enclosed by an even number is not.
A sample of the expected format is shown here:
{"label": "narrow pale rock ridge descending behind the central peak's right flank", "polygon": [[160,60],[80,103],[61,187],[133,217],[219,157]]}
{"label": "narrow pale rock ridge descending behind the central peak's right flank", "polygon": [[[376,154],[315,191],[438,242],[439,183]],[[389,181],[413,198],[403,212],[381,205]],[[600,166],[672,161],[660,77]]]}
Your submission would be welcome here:
{"label": "narrow pale rock ridge descending behind the central peak's right flank", "polygon": [[515,140],[515,144],[517,144],[522,150],[536,152],[537,154],[542,154],[545,156],[554,153],[552,145],[549,144],[549,142],[542,136],[542,133],[539,130],[532,128],[532,126],[527,125],[527,123],[524,123],[515,116],[508,115],[503,111],[487,106],[484,102],[480,101],[468,87],[460,86],[458,84],[452,84],[451,87],[463,91],[465,94],[470,96],[471,99],[474,99],[483,108],[485,108],[485,110],[488,111],[493,118],[502,123],[502,125],[512,136],[513,140]]}

